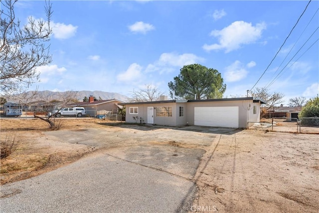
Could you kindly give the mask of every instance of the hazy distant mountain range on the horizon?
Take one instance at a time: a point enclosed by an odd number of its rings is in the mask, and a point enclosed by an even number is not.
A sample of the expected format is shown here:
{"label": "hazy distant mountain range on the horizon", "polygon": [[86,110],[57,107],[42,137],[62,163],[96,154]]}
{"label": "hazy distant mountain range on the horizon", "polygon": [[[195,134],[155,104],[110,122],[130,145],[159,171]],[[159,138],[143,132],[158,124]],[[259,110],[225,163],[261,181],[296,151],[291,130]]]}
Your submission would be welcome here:
{"label": "hazy distant mountain range on the horizon", "polygon": [[[34,91],[29,91],[29,95],[31,96],[31,94]],[[49,90],[45,90],[45,91],[37,91],[36,96],[34,98],[32,98],[33,101],[36,100],[59,100],[60,97],[63,96],[67,96],[70,94],[76,94],[76,96],[74,97],[75,99],[78,99],[80,102],[83,101],[83,98],[86,96],[89,98],[90,95],[93,95],[94,97],[96,97],[97,99],[99,99],[99,97],[101,97],[102,100],[108,100],[108,99],[117,99],[119,101],[123,101],[123,102],[127,102],[129,100],[129,97],[122,95],[120,93],[116,93],[116,92],[103,92],[103,91],[67,91],[67,92],[52,92]],[[30,100],[29,100],[30,101]]]}

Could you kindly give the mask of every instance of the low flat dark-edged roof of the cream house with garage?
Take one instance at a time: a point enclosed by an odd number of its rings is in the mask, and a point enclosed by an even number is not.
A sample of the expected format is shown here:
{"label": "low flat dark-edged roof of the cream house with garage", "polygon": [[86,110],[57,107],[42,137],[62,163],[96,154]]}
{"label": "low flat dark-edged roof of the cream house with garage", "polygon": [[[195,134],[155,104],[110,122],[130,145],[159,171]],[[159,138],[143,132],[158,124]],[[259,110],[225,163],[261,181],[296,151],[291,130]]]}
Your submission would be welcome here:
{"label": "low flat dark-edged roof of the cream house with garage", "polygon": [[265,104],[266,101],[260,98],[245,97],[245,98],[218,98],[218,99],[200,99],[200,100],[167,100],[167,101],[146,101],[146,102],[128,102],[120,103],[119,105],[132,105],[132,104],[160,104],[160,103],[186,103],[186,102],[215,102],[215,101],[245,101],[253,100],[253,102],[260,102]]}

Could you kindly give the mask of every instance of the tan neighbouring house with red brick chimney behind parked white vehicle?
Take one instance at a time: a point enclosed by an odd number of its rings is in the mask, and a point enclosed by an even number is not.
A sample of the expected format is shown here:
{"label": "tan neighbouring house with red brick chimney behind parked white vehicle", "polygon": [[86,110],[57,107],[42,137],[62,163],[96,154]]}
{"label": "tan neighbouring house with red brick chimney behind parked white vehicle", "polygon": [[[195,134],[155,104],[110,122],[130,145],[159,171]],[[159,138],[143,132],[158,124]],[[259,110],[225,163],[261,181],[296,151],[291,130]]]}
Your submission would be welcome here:
{"label": "tan neighbouring house with red brick chimney behind parked white vehicle", "polygon": [[103,111],[103,114],[106,113],[117,113],[119,110],[118,104],[124,103],[123,101],[119,101],[116,99],[110,99],[110,100],[94,100],[93,96],[89,97],[89,101],[86,102],[77,102],[69,104],[68,106],[79,106],[84,107],[86,114],[95,117],[96,115],[100,114],[100,111]]}

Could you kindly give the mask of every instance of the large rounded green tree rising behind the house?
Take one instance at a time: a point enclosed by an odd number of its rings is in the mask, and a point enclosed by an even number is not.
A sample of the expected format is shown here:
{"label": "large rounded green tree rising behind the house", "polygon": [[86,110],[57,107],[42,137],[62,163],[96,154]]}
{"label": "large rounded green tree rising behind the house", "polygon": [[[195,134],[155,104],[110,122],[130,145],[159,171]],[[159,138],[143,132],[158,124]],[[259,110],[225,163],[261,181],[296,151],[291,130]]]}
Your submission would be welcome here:
{"label": "large rounded green tree rising behind the house", "polygon": [[168,83],[169,94],[177,99],[213,99],[222,98],[226,84],[216,69],[200,64],[183,66],[174,81]]}

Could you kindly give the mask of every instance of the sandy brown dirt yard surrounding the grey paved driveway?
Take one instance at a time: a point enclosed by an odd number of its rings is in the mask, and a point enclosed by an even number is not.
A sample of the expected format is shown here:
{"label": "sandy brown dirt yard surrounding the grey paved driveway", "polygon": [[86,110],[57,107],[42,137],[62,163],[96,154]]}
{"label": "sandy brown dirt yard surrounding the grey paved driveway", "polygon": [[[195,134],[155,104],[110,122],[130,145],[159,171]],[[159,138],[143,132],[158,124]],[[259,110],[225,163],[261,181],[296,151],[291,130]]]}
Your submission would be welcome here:
{"label": "sandy brown dirt yard surrounding the grey paved driveway", "polygon": [[[99,119],[66,120],[54,132],[36,119],[1,118],[0,126],[1,140],[10,133],[20,139],[17,150],[1,159],[1,184],[34,177],[101,151],[134,149],[148,140],[149,144],[165,142],[176,148],[204,150],[195,174],[178,174],[198,189],[188,212],[319,212],[318,134],[125,127]],[[110,138],[103,143],[72,140],[72,134],[89,137],[80,135],[86,129],[96,135],[108,132]],[[63,140],[48,134],[59,131],[70,134]],[[162,170],[175,173],[178,168]]]}

